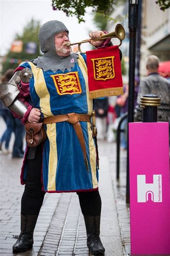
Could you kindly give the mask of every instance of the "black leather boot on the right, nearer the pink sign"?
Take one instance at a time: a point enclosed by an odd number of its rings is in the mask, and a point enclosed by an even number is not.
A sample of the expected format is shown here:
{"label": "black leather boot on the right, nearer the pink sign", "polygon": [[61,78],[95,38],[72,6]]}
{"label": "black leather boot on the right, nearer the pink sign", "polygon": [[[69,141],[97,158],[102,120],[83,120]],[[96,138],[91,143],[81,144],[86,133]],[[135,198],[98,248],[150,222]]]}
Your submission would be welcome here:
{"label": "black leather boot on the right, nearer the pink sign", "polygon": [[87,246],[93,255],[104,255],[105,249],[100,240],[100,215],[84,215],[87,232]]}

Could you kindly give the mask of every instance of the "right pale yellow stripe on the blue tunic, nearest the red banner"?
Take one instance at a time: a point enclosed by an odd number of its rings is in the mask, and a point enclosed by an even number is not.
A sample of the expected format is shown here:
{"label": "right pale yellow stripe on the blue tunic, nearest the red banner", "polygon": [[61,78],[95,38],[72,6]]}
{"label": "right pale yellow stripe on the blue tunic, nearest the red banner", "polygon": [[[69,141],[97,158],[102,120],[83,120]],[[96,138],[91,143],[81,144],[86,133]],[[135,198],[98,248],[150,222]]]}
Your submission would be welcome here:
{"label": "right pale yellow stripe on the blue tunic, nearest the red banner", "polygon": [[[87,96],[87,103],[88,103],[88,114],[91,114],[93,111],[93,100],[89,99],[88,69],[81,55],[79,55],[79,58],[78,58],[78,65],[81,69],[81,72],[85,80],[86,96]],[[97,188],[98,180],[96,178],[96,149],[95,149],[94,140],[92,137],[91,124],[90,123],[87,123],[87,124],[88,124],[88,135],[89,135],[89,153],[90,153],[92,183],[93,183],[93,188]]]}

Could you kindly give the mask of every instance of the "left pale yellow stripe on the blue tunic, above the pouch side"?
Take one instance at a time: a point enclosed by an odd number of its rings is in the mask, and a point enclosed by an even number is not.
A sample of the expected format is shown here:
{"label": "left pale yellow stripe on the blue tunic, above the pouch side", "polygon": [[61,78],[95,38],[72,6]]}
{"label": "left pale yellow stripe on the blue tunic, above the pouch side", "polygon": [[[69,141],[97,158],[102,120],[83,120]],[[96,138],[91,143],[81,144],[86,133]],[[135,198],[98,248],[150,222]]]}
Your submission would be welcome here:
{"label": "left pale yellow stripe on the blue tunic, above the pouch side", "polygon": [[[32,62],[28,62],[34,76],[34,88],[39,97],[39,105],[44,117],[53,116],[50,107],[50,95],[44,80],[43,71],[37,68]],[[47,137],[49,140],[49,161],[48,161],[48,191],[56,190],[57,170],[57,143],[56,123],[47,124]]]}

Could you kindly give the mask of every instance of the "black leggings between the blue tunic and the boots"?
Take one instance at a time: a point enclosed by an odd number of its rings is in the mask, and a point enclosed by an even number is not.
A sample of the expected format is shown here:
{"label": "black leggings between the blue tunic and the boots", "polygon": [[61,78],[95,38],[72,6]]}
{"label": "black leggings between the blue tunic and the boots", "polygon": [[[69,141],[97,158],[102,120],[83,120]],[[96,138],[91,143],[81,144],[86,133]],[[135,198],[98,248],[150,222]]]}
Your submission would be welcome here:
{"label": "black leggings between the blue tunic and the boots", "polygon": [[[42,191],[41,184],[41,146],[37,147],[35,158],[27,159],[27,177],[25,179],[25,189],[21,200],[21,214],[38,215],[41,209],[45,192]],[[99,191],[77,192],[80,207],[83,215],[100,215],[101,198]]]}

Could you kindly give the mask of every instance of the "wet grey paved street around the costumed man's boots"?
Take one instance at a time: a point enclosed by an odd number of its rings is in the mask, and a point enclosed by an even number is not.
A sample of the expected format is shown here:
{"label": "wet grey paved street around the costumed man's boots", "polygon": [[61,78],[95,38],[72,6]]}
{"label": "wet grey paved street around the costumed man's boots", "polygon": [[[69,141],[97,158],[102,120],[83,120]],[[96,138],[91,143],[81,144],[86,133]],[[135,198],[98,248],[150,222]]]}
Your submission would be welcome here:
{"label": "wet grey paved street around the costumed man's boots", "polygon": [[[2,124],[0,120],[0,124]],[[115,144],[99,142],[99,191],[102,199],[101,241],[105,256],[129,253],[129,219],[124,197],[125,168],[121,182],[115,181]],[[125,154],[121,156],[126,159]],[[124,161],[123,160],[123,161]],[[12,253],[12,245],[20,233],[20,185],[22,160],[0,155],[0,254]],[[33,249],[23,256],[61,255],[88,256],[84,219],[76,193],[46,193],[34,232]]]}

